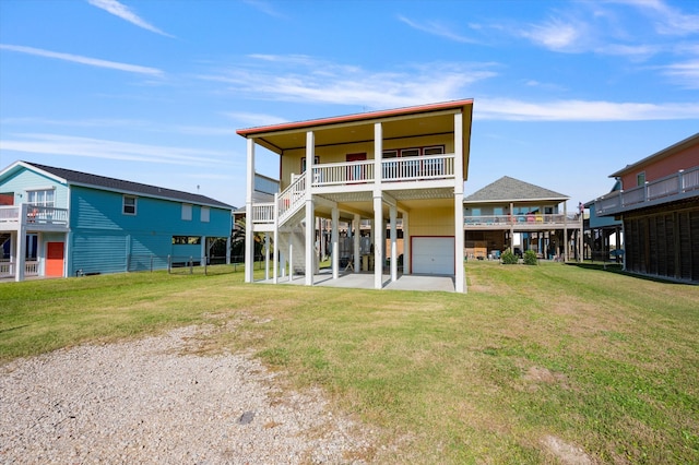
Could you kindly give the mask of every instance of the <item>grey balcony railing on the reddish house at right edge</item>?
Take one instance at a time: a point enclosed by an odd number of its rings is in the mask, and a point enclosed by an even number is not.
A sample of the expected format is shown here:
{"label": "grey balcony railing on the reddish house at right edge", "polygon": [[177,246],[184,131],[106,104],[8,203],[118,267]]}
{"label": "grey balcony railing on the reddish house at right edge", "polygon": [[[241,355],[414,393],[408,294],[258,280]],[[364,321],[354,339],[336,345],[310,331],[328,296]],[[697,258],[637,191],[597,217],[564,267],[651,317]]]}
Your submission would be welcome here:
{"label": "grey balcony railing on the reddish house at right edge", "polygon": [[648,181],[644,186],[603,195],[595,201],[595,213],[604,216],[633,207],[655,205],[692,195],[695,191],[699,191],[699,166]]}

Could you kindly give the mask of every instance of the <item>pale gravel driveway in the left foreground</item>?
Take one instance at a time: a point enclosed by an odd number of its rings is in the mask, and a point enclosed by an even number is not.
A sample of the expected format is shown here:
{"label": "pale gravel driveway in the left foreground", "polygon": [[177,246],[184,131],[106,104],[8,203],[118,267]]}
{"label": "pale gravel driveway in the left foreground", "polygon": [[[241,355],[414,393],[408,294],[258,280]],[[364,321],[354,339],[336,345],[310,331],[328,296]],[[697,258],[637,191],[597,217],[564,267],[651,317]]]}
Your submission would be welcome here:
{"label": "pale gravel driveway in the left foreground", "polygon": [[245,355],[181,355],[190,326],[0,366],[0,463],[364,463],[371,431]]}

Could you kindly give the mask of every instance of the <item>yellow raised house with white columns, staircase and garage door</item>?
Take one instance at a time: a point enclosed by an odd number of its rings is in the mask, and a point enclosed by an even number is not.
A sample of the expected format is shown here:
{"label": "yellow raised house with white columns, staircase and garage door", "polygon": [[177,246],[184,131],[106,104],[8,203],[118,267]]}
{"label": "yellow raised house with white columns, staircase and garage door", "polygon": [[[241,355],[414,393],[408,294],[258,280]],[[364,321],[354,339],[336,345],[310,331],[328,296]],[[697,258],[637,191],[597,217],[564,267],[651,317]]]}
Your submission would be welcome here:
{"label": "yellow raised house with white columns, staircase and garage door", "polygon": [[[273,238],[282,264],[274,260],[271,279],[303,274],[304,284],[313,285],[317,218],[325,218],[332,278],[364,270],[382,288],[384,271],[390,282],[398,279],[400,220],[403,273],[450,275],[464,291],[462,201],[472,110],[473,100],[465,99],[238,130],[247,139],[246,282],[253,281],[253,234],[262,233]],[[276,192],[256,172],[256,147],[279,155]],[[364,236],[363,220],[371,225]],[[341,224],[352,238],[342,258]]]}

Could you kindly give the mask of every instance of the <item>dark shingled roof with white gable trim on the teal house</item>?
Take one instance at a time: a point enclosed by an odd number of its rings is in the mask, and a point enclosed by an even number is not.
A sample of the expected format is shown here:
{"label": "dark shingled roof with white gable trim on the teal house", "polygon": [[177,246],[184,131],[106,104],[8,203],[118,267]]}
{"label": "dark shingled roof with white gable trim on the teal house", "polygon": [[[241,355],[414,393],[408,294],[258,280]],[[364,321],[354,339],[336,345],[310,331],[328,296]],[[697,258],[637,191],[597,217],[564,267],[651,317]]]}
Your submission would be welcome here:
{"label": "dark shingled roof with white gable trim on the teal house", "polygon": [[72,169],[57,168],[54,166],[40,165],[38,163],[31,162],[17,162],[7,168],[4,171],[0,172],[0,176],[22,166],[28,169],[40,171],[44,175],[66,182],[69,186],[82,186],[128,194],[175,200],[178,202],[196,203],[198,205],[214,206],[218,208],[234,208],[234,206],[205,195],[159,188],[157,186],[142,184],[139,182],[125,181],[122,179],[108,178],[106,176],[91,175],[88,172],[74,171]]}

